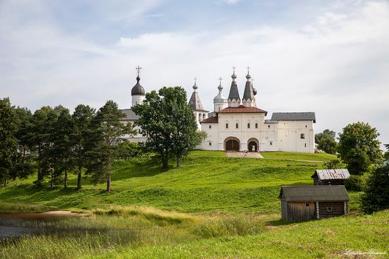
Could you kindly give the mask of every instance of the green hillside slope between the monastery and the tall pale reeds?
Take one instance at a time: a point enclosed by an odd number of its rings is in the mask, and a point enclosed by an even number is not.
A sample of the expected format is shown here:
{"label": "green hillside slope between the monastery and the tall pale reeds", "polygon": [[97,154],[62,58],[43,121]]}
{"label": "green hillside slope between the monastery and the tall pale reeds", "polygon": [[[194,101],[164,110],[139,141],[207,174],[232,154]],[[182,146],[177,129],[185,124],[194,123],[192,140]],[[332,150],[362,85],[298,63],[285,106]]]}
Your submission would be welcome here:
{"label": "green hillside slope between the monastery and the tall pale reeds", "polygon": [[[271,154],[271,153],[269,153]],[[277,154],[277,153],[272,153]],[[289,153],[279,152],[278,157]],[[300,157],[298,157],[299,155]],[[322,154],[306,155],[323,160]],[[279,186],[312,184],[310,176],[321,168],[320,162],[287,159],[226,158],[224,152],[194,151],[182,159],[180,169],[162,171],[150,159],[117,161],[112,173],[112,193],[105,184],[83,182],[75,191],[76,176],[69,177],[69,188],[33,186],[35,176],[14,181],[0,188],[6,203],[33,203],[54,210],[93,210],[110,205],[144,205],[180,212],[255,212],[279,214]]]}

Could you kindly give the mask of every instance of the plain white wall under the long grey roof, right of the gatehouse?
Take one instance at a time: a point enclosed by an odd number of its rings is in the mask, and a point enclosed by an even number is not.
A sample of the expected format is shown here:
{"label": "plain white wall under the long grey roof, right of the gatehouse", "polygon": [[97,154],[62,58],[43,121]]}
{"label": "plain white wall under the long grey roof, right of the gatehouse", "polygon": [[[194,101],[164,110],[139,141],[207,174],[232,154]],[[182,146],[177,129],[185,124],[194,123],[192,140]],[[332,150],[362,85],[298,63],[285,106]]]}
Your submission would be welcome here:
{"label": "plain white wall under the long grey roof, right of the gatehouse", "polygon": [[315,152],[313,121],[279,121],[278,138],[279,151]]}

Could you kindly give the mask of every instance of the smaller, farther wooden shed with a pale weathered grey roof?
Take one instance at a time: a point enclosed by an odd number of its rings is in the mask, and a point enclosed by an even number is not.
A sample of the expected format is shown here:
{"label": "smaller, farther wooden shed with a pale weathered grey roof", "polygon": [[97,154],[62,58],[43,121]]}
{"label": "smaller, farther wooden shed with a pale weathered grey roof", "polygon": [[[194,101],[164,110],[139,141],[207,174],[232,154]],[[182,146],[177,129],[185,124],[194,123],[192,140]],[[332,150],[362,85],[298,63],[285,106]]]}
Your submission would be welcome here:
{"label": "smaller, farther wooden shed with a pale weathered grey roof", "polygon": [[349,179],[350,173],[347,169],[318,169],[313,176],[315,186],[344,185],[344,180]]}

